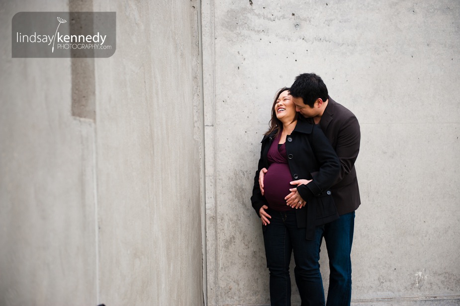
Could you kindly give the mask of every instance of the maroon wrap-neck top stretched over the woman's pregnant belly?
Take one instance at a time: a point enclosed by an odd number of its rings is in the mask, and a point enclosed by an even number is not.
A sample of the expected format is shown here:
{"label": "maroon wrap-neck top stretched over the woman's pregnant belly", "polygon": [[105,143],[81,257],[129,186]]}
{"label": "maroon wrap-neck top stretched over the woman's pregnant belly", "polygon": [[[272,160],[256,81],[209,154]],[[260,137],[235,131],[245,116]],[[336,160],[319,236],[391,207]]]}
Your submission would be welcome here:
{"label": "maroon wrap-neck top stretched over the woman's pregnant belly", "polygon": [[287,164],[286,144],[278,145],[280,137],[281,133],[273,141],[267,153],[270,166],[264,177],[264,189],[269,207],[284,212],[293,209],[286,205],[284,197],[290,193],[289,188],[294,188],[295,185],[289,184],[292,175]]}

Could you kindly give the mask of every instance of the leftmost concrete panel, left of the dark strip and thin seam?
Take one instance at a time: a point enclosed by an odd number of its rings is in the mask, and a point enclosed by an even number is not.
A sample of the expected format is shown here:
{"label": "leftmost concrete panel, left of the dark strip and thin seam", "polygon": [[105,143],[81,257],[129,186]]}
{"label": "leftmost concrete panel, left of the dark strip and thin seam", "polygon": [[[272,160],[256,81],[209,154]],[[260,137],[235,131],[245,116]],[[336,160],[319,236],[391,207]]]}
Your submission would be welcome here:
{"label": "leftmost concrete panel, left of the dark strip and thin seam", "polygon": [[14,13],[40,9],[0,9],[0,305],[95,305],[94,124],[71,115],[70,59],[8,43]]}

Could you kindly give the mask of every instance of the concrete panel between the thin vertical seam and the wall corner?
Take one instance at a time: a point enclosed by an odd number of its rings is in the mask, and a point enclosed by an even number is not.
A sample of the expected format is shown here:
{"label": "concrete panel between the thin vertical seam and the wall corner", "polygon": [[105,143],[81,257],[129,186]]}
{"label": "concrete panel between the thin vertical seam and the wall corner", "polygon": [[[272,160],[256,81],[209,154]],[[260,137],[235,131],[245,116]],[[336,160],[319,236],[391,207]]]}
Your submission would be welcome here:
{"label": "concrete panel between the thin vertical seam and the wall corner", "polygon": [[119,25],[95,62],[100,302],[202,305],[196,2],[95,9]]}

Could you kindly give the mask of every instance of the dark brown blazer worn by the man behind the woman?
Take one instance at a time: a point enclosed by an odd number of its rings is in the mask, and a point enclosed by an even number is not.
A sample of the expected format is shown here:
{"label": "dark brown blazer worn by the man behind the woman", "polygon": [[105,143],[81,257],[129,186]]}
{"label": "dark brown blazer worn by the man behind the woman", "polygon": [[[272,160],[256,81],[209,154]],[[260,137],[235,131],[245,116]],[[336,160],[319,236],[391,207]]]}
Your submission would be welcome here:
{"label": "dark brown blazer worn by the man behind the woman", "polygon": [[361,204],[355,170],[360,152],[360,124],[350,110],[329,97],[319,125],[340,160],[340,175],[331,187],[337,212],[351,213]]}

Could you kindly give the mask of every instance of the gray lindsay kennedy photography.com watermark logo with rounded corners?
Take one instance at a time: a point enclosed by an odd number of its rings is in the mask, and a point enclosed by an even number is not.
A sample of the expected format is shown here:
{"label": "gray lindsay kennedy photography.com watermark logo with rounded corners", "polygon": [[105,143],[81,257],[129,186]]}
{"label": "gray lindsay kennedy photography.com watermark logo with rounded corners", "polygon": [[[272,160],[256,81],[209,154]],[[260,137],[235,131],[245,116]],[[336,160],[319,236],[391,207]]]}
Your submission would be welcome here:
{"label": "gray lindsay kennedy photography.com watermark logo with rounded corners", "polygon": [[19,12],[11,19],[13,58],[107,58],[115,49],[115,12]]}

